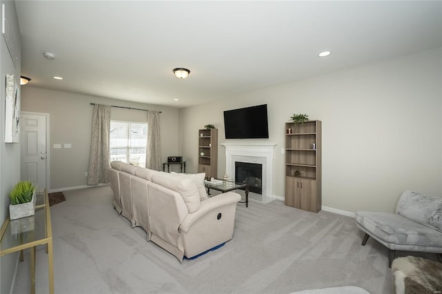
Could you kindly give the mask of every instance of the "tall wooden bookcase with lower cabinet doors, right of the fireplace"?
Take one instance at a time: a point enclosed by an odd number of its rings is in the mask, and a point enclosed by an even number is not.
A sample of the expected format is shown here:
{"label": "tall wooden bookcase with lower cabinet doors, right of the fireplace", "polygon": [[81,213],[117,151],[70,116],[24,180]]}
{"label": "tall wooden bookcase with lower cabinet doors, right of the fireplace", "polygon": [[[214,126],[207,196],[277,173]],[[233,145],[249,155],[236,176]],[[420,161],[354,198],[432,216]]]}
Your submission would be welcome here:
{"label": "tall wooden bookcase with lower cabinet doors, right of the fireplace", "polygon": [[285,124],[285,205],[314,213],[322,205],[321,125],[317,120]]}

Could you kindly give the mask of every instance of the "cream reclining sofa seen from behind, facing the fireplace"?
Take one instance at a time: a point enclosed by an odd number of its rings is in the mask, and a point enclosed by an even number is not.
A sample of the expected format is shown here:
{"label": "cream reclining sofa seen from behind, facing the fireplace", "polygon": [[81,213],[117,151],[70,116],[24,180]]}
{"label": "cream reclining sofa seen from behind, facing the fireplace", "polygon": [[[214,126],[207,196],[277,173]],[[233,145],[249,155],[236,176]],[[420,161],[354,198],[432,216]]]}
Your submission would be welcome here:
{"label": "cream reclining sofa seen from behind, facing the fireplace", "polygon": [[238,193],[207,197],[204,173],[170,174],[112,161],[113,206],[182,262],[233,237]]}

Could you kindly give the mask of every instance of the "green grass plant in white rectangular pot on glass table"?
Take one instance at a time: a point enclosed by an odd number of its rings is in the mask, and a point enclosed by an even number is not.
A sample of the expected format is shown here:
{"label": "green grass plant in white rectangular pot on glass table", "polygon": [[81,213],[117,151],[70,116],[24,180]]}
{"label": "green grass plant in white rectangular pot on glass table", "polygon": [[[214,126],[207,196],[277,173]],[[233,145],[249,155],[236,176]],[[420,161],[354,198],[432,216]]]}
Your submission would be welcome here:
{"label": "green grass plant in white rectangular pot on glass table", "polygon": [[12,188],[9,197],[9,219],[19,219],[35,214],[35,189],[29,181],[20,181]]}

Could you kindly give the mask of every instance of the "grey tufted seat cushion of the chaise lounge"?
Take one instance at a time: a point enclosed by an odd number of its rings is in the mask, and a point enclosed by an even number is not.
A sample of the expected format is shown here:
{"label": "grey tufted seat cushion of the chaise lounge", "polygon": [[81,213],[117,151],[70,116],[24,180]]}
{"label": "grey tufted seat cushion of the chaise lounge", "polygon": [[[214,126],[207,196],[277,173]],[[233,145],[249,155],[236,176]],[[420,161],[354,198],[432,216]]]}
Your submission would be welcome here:
{"label": "grey tufted seat cushion of the chaise lounge", "polygon": [[442,250],[441,233],[401,215],[358,211],[355,219],[364,231],[388,244],[407,245],[410,251],[413,251],[413,246],[423,245],[441,247]]}

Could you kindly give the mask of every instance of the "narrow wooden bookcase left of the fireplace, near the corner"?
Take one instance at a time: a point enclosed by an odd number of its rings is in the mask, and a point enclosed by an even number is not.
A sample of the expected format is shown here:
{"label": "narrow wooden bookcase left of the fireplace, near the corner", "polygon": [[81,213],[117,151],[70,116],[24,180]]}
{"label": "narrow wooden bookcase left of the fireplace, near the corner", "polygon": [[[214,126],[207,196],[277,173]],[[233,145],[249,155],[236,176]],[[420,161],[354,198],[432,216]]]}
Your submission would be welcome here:
{"label": "narrow wooden bookcase left of the fireplace, near the corner", "polygon": [[217,170],[218,128],[198,130],[198,173],[206,173],[206,177],[217,177]]}

